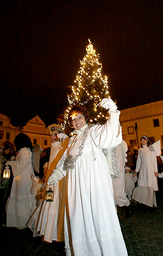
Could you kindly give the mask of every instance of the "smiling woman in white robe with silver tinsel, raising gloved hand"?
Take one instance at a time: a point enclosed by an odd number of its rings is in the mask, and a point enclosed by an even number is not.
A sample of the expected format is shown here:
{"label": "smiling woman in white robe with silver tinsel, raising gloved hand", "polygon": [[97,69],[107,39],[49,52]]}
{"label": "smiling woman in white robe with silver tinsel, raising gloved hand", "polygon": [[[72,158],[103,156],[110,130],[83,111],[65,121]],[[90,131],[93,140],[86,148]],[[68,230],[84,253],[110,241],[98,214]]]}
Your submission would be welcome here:
{"label": "smiling woman in white robe with silver tinsel, raising gloved hand", "polygon": [[64,220],[67,256],[126,256],[127,250],[114,206],[112,180],[102,148],[117,146],[122,141],[120,111],[110,99],[101,106],[110,109],[104,125],[88,124],[83,106],[74,106],[69,120],[74,136],[48,179],[57,184],[67,178]]}

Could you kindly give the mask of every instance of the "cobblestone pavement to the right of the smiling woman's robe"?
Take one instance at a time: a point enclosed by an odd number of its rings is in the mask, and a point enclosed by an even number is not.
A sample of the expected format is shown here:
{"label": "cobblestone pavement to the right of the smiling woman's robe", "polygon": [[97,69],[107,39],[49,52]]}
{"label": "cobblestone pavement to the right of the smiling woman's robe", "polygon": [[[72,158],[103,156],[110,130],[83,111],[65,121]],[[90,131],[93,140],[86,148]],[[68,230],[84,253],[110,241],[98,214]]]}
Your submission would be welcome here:
{"label": "cobblestone pavement to the right of the smiling woman's robe", "polygon": [[129,256],[163,256],[163,193],[156,192],[157,207],[133,207],[125,218],[119,209],[120,223]]}

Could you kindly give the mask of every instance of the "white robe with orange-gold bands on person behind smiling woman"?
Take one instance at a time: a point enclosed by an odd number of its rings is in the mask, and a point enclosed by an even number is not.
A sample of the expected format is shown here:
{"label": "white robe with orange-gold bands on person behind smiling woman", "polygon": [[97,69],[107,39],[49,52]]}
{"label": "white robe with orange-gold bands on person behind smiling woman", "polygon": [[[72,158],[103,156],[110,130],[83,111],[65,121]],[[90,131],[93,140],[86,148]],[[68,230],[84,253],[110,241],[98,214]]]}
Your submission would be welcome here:
{"label": "white robe with orange-gold bands on person behind smiling woman", "polygon": [[[52,143],[51,155],[49,160],[48,173],[46,174],[46,180],[52,174],[52,170],[56,168],[56,165],[62,157],[64,151],[67,148],[69,137],[65,135],[64,139]],[[47,186],[48,190],[49,186]],[[60,180],[57,186],[53,186],[54,199],[53,202],[46,202],[44,200],[37,231],[43,236],[44,241],[52,243],[53,240],[61,242],[64,241],[64,209],[65,209],[65,197],[66,197],[66,178]]]}

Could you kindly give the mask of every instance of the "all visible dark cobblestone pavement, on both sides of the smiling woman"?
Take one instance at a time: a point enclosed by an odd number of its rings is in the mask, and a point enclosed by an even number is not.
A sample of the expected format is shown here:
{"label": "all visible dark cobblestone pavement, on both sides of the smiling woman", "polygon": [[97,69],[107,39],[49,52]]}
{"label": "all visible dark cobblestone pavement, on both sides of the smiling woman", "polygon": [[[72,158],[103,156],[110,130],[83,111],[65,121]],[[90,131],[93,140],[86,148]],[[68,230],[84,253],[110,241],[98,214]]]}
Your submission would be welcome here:
{"label": "all visible dark cobblestone pavement, on both sides of the smiling woman", "polygon": [[[163,256],[162,191],[156,193],[157,208],[138,205],[134,207],[130,219],[126,219],[124,209],[119,208],[120,224],[128,256]],[[1,227],[2,256],[63,255],[58,253],[60,246],[60,243],[45,243],[41,237],[33,238],[29,229]]]}

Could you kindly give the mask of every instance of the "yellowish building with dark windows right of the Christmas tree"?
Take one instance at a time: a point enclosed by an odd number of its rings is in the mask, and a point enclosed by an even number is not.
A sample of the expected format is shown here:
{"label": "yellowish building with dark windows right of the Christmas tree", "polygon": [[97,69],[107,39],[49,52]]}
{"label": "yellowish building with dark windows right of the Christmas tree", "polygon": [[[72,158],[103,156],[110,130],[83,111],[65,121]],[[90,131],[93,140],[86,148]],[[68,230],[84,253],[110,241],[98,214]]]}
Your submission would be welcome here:
{"label": "yellowish building with dark windows right of the Christmas tree", "polygon": [[163,100],[121,110],[120,123],[127,145],[140,147],[140,138],[147,135],[150,141],[161,141],[163,148]]}

